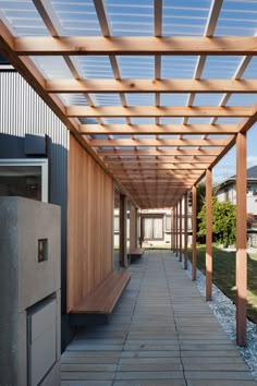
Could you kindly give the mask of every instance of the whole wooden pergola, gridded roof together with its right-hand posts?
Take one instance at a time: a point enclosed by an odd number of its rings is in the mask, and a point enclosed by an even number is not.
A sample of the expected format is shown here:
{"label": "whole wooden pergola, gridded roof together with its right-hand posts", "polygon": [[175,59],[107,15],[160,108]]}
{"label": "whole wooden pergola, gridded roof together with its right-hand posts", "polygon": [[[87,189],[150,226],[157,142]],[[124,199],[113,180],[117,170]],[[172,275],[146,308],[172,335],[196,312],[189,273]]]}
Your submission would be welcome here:
{"label": "whole wooden pergola, gridded roof together with its right-hand posts", "polygon": [[[127,33],[122,33],[122,28],[117,31],[112,21],[114,5],[109,2],[105,4],[103,0],[91,0],[87,2],[90,12],[83,15],[81,34],[75,34],[76,26],[69,27],[69,23],[72,19],[75,24],[81,22],[77,14],[82,1],[73,4],[72,1],[33,0],[32,13],[22,13],[22,27],[15,25],[15,17],[10,16],[10,12],[21,13],[22,1],[10,1],[11,11],[8,5],[0,9],[0,51],[136,207],[173,208],[176,232],[182,228],[176,220],[182,219],[182,198],[193,190],[193,279],[196,276],[196,184],[206,177],[207,300],[211,299],[212,272],[211,171],[236,144],[237,342],[244,346],[246,133],[256,122],[257,105],[254,99],[248,105],[243,99],[242,104],[230,101],[238,94],[242,98],[245,94],[256,96],[257,79],[244,77],[244,73],[257,55],[257,37],[250,28],[242,36],[235,33],[216,35],[225,7],[222,0],[211,1],[207,10],[205,7],[205,23],[199,26],[201,32],[186,34],[191,29],[188,25],[185,33],[174,31],[169,35],[163,33],[167,24],[163,20],[170,7],[164,0],[148,2],[151,7],[147,8],[147,12],[152,13],[150,32],[138,33],[136,28],[140,23],[133,23],[133,20],[127,23],[128,26],[124,24]],[[126,1],[122,2],[123,7],[126,3],[126,7],[137,7]],[[183,20],[186,17],[186,7],[183,1],[181,3],[179,17]],[[238,3],[244,5],[244,1]],[[65,26],[62,13],[69,14],[72,7],[77,8],[77,13],[72,16],[71,12]],[[139,16],[146,12],[144,5],[142,8]],[[118,4],[115,10],[119,13]],[[122,10],[121,19],[128,17],[127,9]],[[188,10],[196,11],[193,4]],[[26,29],[26,25],[32,26],[32,23],[34,28]],[[97,28],[90,29],[90,23],[95,23]],[[241,31],[240,27],[236,31]],[[94,61],[89,62],[88,58]],[[184,71],[186,64],[183,60],[192,61],[192,58],[193,71],[188,76],[189,71]],[[227,77],[228,72],[218,65],[220,77],[207,77],[208,61],[213,58],[229,58],[230,63],[234,60],[232,76]],[[184,76],[172,76],[171,60],[174,59]],[[166,62],[168,71],[167,68],[164,71]],[[105,70],[107,68],[108,71]],[[130,77],[130,73],[138,75]],[[185,101],[178,104],[176,98],[181,100],[184,96]],[[201,102],[198,102],[198,97]],[[212,97],[218,100],[216,105],[210,102]],[[187,213],[187,205],[184,212]],[[181,239],[176,240],[176,246],[182,248]]]}

